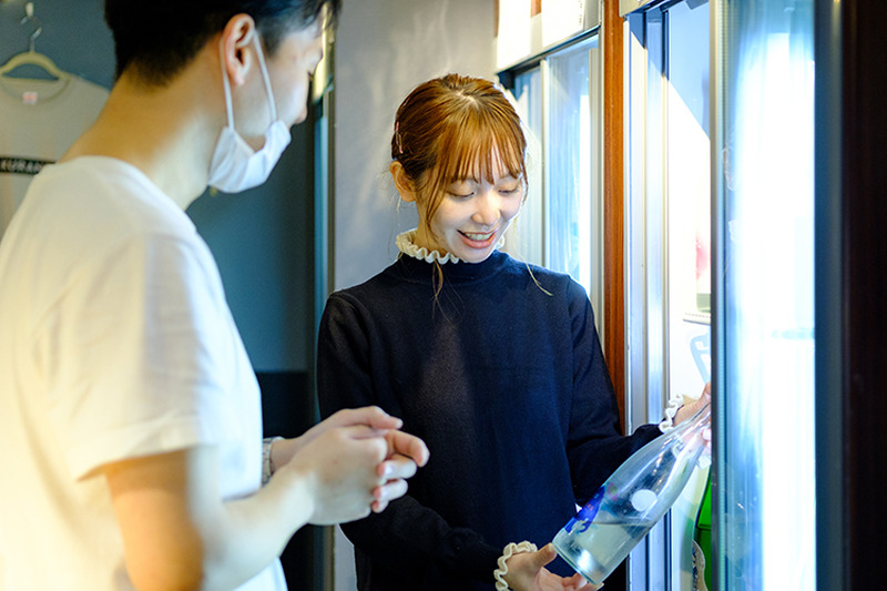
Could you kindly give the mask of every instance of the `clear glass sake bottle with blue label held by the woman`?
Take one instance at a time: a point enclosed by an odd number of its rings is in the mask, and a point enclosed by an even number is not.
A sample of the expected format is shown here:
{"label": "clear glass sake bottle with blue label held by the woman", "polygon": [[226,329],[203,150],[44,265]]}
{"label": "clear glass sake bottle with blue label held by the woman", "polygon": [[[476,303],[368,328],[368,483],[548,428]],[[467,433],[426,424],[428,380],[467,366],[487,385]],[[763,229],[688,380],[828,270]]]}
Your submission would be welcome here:
{"label": "clear glass sake bottle with blue label held by the woman", "polygon": [[558,554],[600,584],[674,505],[705,450],[711,405],[635,451],[554,537]]}

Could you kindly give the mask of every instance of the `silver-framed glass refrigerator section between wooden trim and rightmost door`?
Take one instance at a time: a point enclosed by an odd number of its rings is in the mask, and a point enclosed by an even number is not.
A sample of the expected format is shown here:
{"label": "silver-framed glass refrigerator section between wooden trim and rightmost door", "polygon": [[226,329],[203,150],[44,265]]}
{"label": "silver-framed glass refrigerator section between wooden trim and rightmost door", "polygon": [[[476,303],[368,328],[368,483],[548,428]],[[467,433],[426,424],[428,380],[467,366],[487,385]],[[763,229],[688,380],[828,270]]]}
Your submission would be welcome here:
{"label": "silver-framed glass refrigerator section between wooden trim and rightmost door", "polygon": [[[659,422],[711,379],[711,52],[706,1],[648,6],[625,21],[626,409]],[[690,590],[707,467],[631,557],[633,590]]]}

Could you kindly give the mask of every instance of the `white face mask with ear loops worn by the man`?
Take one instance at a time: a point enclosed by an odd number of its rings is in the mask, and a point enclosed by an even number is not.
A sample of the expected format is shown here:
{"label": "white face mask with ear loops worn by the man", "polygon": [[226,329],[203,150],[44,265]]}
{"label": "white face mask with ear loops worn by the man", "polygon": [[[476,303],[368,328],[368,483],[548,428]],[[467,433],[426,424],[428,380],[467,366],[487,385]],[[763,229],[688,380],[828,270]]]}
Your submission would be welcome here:
{"label": "white face mask with ear loops worn by the man", "polygon": [[268,94],[268,109],[271,111],[271,126],[265,132],[265,145],[255,151],[246,141],[234,130],[234,108],[231,102],[231,84],[225,68],[222,44],[218,45],[218,54],[222,61],[222,81],[225,84],[225,108],[228,114],[228,124],[222,130],[218,141],[215,144],[213,160],[210,163],[210,186],[225,193],[238,193],[258,186],[268,180],[271,171],[284,149],[289,145],[289,129],[283,121],[277,120],[277,109],[274,105],[274,94],[271,90],[271,79],[265,67],[265,57],[262,53],[262,45],[258,42],[258,33],[254,33],[253,41],[258,53],[258,64],[262,70],[262,79],[265,81],[265,90]]}

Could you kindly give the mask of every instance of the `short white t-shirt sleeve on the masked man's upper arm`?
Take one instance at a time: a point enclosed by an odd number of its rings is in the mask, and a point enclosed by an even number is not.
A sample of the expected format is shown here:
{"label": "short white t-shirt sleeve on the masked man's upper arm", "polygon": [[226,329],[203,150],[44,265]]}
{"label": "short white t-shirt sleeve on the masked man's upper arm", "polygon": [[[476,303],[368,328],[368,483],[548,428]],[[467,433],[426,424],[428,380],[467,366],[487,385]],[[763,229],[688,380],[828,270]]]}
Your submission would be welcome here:
{"label": "short white t-shirt sleeve on the masked man's upper arm", "polygon": [[84,261],[61,302],[35,355],[74,477],[238,436],[228,390],[239,340],[202,242],[129,240]]}

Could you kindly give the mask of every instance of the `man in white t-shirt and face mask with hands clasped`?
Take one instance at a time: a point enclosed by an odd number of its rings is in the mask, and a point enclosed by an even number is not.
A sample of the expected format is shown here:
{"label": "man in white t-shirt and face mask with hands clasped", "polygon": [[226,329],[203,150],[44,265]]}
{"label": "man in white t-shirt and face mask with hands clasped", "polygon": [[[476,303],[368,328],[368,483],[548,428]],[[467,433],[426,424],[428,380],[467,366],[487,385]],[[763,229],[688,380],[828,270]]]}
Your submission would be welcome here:
{"label": "man in white t-shirt and face mask with hands clasped", "polygon": [[106,1],[106,105],[0,243],[0,590],[285,589],[298,528],[384,510],[428,460],[371,407],[263,441],[184,213],[267,177],[338,3]]}

